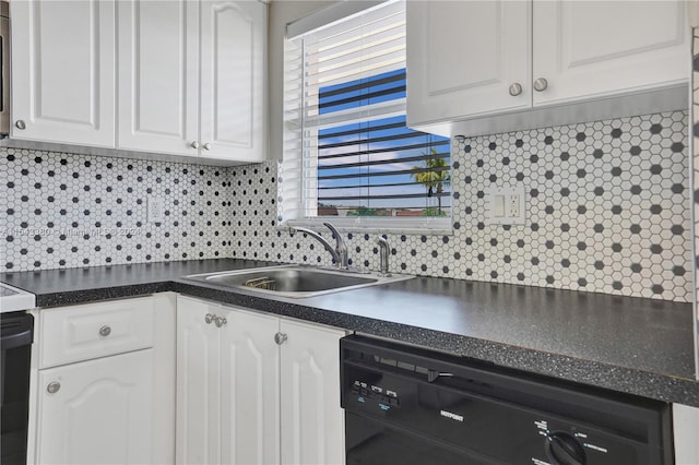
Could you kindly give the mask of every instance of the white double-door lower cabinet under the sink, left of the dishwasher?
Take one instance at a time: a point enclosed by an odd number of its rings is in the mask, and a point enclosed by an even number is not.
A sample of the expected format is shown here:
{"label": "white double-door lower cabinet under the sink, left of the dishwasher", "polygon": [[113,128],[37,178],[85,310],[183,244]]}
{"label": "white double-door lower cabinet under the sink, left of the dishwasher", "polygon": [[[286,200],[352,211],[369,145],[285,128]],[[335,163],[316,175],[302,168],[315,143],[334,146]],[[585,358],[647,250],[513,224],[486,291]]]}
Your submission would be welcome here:
{"label": "white double-door lower cabinet under the sink, left of the dishwasher", "polygon": [[177,463],[344,463],[344,334],[180,296]]}

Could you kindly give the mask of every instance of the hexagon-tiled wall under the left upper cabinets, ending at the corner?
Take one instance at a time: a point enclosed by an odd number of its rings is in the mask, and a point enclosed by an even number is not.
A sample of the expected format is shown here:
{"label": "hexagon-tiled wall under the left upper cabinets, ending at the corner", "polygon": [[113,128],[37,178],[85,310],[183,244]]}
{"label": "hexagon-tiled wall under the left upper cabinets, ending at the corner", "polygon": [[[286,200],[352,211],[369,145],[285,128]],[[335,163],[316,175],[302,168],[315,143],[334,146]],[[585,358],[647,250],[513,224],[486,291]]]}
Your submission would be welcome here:
{"label": "hexagon-tiled wall under the left upper cabinets, ending at the corner", "polygon": [[227,168],[1,148],[0,182],[3,271],[230,255]]}

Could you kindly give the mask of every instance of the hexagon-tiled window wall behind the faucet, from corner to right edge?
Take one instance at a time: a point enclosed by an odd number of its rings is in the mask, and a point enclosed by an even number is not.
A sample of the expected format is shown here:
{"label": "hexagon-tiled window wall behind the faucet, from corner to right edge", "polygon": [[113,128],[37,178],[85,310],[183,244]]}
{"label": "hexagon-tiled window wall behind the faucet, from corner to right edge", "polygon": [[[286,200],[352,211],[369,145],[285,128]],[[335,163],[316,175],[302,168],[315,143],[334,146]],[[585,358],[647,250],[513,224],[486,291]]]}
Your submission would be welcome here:
{"label": "hexagon-tiled window wall behind the faucet, from corner to right edge", "polygon": [[[454,234],[390,235],[391,269],[690,301],[687,143],[684,111],[454,142]],[[264,166],[234,178],[269,184],[275,164]],[[488,189],[514,183],[528,193],[526,225],[486,225]],[[274,212],[249,210],[234,219],[234,257],[330,263],[313,239],[272,228]],[[350,257],[378,269],[375,235],[351,235]]]}

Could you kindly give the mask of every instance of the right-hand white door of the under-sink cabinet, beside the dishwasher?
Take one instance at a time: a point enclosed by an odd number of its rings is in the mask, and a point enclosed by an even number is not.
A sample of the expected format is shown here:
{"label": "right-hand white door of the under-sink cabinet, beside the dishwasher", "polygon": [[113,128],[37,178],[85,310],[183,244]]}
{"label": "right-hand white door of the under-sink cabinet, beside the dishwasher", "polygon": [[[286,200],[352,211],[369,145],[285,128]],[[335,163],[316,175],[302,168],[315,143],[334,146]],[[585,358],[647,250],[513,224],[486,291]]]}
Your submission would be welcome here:
{"label": "right-hand white door of the under-sink cabinet, beside the dishwasher", "polygon": [[343,464],[343,331],[282,320],[282,464]]}

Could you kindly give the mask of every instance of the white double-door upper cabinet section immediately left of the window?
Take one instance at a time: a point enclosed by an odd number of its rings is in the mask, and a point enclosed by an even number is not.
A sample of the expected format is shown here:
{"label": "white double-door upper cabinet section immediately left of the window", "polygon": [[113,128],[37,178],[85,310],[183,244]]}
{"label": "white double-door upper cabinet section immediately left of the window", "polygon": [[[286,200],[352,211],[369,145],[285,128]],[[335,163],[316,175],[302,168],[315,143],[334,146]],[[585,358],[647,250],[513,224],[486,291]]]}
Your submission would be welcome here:
{"label": "white double-door upper cabinet section immediately left of the window", "polygon": [[133,0],[118,8],[117,147],[262,162],[266,5]]}

